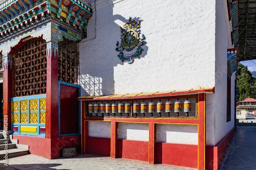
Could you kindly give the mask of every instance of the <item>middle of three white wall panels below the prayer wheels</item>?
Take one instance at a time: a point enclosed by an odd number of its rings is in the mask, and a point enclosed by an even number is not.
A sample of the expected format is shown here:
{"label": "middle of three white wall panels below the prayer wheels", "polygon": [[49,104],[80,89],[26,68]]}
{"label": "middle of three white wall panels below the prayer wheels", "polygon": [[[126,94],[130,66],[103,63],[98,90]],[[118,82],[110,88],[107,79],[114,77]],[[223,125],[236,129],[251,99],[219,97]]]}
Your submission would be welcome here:
{"label": "middle of three white wall panels below the prayer wheels", "polygon": [[118,123],[118,139],[148,141],[150,138],[147,123]]}

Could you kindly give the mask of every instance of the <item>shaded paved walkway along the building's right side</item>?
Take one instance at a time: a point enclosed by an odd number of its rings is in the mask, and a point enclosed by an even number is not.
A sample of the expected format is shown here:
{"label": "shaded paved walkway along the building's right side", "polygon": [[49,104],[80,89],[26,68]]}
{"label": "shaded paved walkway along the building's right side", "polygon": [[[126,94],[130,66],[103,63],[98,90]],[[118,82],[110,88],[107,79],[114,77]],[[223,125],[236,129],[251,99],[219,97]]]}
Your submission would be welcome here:
{"label": "shaded paved walkway along the building's right side", "polygon": [[256,127],[238,126],[220,169],[256,170]]}

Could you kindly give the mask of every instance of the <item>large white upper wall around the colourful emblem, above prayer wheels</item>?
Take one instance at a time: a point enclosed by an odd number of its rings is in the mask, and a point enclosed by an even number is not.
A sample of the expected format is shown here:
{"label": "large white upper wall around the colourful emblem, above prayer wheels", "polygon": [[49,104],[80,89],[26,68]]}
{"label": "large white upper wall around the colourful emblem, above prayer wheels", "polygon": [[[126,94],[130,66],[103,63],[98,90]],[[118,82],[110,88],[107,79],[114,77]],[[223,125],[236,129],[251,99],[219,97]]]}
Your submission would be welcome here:
{"label": "large white upper wall around the colourful emblem, above prayer wheels", "polygon": [[[130,16],[141,20],[147,42],[133,64],[115,51],[119,26]],[[215,1],[96,1],[79,49],[81,78],[91,79],[81,80],[81,95],[214,87]]]}

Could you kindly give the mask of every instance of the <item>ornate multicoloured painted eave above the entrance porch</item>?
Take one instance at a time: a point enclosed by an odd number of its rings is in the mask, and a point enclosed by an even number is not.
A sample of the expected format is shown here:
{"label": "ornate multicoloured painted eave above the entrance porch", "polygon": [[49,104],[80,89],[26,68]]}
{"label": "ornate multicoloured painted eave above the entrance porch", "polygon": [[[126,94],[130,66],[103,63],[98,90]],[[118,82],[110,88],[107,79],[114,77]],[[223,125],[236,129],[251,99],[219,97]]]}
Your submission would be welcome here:
{"label": "ornate multicoloured painted eave above the entrance porch", "polygon": [[7,40],[35,22],[51,18],[84,31],[92,16],[92,7],[84,0],[8,0],[0,1],[0,41]]}

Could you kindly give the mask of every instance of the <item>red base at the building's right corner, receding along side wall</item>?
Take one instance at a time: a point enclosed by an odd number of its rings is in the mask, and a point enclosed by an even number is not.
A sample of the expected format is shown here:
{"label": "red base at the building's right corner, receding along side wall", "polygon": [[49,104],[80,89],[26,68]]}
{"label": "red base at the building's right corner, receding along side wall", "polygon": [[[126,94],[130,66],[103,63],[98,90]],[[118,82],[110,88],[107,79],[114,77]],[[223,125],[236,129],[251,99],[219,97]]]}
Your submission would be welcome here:
{"label": "red base at the building's right corner, receding along side wall", "polygon": [[233,127],[228,134],[216,144],[215,147],[206,146],[206,169],[218,170],[220,165],[225,158],[226,152],[229,148],[231,140],[234,136],[235,127]]}

